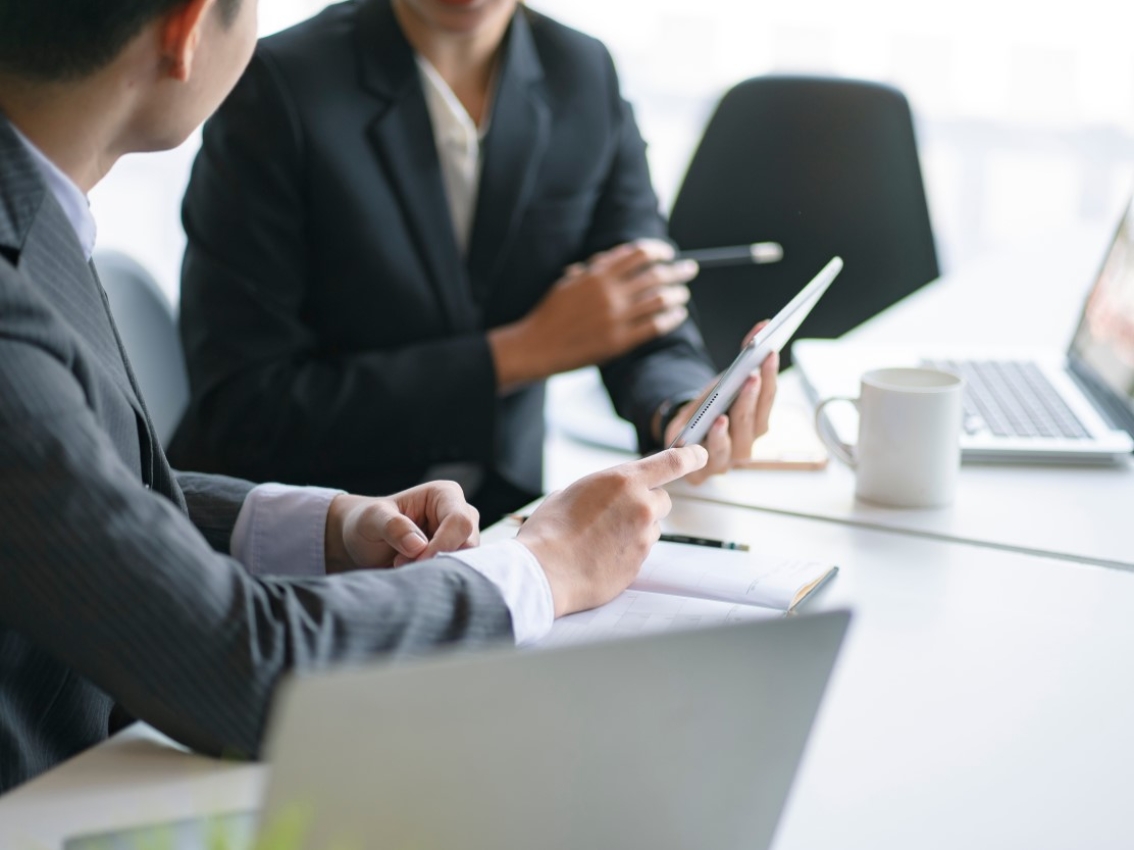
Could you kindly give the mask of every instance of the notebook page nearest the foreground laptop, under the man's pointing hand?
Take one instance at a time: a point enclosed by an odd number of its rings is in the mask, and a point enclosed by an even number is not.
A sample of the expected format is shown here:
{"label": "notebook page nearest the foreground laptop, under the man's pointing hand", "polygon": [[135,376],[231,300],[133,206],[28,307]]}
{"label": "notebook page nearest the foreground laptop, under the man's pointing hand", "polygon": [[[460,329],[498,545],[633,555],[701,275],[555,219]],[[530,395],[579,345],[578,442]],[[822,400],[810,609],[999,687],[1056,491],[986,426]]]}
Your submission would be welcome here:
{"label": "notebook page nearest the foreground laptop, under the man's pointing hand", "polygon": [[678,629],[703,629],[784,615],[782,611],[768,607],[626,590],[601,607],[556,620],[550,634],[539,646],[565,646]]}

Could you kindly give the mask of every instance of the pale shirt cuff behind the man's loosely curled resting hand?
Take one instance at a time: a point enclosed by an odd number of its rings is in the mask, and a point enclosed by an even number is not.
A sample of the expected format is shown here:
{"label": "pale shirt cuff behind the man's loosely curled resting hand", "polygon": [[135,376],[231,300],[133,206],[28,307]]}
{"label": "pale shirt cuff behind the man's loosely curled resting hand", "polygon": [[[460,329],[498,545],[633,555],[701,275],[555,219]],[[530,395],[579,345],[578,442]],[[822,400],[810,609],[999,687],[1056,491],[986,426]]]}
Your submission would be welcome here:
{"label": "pale shirt cuff behind the man's loosely curled resting hand", "polygon": [[327,511],[341,490],[261,484],[232,526],[229,551],[253,576],[327,575]]}

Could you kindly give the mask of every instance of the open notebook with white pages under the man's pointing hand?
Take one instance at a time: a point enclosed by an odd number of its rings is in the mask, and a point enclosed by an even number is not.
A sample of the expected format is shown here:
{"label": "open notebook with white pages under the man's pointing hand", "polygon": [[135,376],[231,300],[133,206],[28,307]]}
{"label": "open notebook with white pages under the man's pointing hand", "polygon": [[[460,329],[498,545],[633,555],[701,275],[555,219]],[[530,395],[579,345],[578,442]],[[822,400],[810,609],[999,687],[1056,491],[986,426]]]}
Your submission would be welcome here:
{"label": "open notebook with white pages under the man's pointing hand", "polygon": [[628,590],[557,620],[540,646],[784,617],[836,572],[821,561],[662,542]]}

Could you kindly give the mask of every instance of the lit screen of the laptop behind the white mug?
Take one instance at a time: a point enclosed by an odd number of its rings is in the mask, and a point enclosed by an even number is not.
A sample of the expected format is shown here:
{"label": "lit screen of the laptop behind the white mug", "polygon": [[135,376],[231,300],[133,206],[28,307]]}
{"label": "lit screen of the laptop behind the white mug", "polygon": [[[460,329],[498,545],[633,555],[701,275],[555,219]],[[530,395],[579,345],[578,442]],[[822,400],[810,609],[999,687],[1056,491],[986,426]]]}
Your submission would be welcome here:
{"label": "lit screen of the laptop behind the white mug", "polygon": [[1134,201],[1083,308],[1070,354],[1134,410]]}

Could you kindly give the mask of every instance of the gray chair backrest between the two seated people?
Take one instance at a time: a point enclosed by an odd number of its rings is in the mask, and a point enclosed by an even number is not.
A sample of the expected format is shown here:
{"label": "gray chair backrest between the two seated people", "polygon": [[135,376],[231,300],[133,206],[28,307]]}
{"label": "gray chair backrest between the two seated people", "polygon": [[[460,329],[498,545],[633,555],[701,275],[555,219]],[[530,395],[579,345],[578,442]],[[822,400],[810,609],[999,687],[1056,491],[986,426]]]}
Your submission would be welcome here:
{"label": "gray chair backrest between the two seated people", "polygon": [[174,307],[150,273],[125,254],[100,252],[94,264],[158,439],[168,445],[189,401]]}

